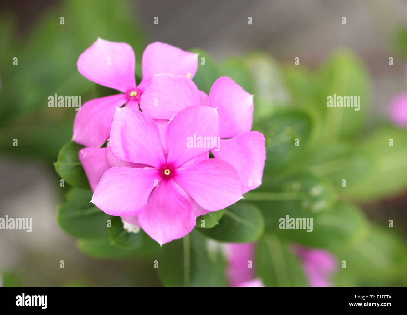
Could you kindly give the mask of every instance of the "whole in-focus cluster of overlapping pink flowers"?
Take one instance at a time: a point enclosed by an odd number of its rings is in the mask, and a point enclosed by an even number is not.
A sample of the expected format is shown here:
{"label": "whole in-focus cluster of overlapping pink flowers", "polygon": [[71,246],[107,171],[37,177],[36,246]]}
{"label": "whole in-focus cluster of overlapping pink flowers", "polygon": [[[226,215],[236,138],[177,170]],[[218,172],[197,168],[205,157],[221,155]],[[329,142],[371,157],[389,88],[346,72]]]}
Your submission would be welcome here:
{"label": "whole in-focus cluster of overlapping pink flowers", "polygon": [[79,56],[85,78],[122,93],[83,104],[72,140],[85,146],[92,203],[164,244],[260,186],[265,138],[251,131],[253,95],[232,79],[199,91],[197,54],[148,45],[138,86],[135,65],[131,46],[102,39]]}

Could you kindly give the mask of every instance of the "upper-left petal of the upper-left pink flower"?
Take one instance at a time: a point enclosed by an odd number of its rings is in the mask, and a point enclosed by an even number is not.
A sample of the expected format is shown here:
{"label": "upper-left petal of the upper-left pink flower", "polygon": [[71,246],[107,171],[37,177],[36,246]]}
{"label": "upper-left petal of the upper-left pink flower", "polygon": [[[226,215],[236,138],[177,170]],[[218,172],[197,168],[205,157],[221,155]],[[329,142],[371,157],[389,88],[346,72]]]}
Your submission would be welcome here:
{"label": "upper-left petal of the upper-left pink flower", "polygon": [[78,71],[85,78],[126,93],[136,88],[136,57],[127,43],[98,38],[78,58]]}

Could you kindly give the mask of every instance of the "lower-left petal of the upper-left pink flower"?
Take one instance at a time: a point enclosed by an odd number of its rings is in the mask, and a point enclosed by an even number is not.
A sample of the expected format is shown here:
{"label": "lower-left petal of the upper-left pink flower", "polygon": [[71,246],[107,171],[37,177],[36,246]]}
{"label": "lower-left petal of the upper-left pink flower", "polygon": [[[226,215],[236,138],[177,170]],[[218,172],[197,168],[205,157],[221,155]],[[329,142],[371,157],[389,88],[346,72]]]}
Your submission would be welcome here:
{"label": "lower-left petal of the upper-left pink flower", "polygon": [[85,147],[100,147],[109,136],[116,107],[126,102],[125,94],[92,99],[83,104],[74,120],[72,140]]}

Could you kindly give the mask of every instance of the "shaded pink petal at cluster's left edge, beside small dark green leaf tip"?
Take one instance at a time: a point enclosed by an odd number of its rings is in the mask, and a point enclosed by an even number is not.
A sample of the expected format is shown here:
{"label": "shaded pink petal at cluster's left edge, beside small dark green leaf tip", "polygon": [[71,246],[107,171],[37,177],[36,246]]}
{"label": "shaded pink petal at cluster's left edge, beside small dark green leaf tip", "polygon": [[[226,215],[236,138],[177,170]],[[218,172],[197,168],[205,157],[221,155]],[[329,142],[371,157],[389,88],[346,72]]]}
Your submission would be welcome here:
{"label": "shaded pink petal at cluster's left edge, beside small dark green leaf tip", "polygon": [[83,148],[78,153],[92,191],[96,189],[103,174],[110,168],[105,151],[106,148]]}

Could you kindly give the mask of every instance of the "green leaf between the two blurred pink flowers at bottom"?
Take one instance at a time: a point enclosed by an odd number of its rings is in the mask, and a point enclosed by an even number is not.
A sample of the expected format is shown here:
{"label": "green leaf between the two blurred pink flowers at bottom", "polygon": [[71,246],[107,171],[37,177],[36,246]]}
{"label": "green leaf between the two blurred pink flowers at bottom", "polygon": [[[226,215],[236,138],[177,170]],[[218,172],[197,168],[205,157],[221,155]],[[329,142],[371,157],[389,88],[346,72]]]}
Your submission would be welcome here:
{"label": "green leaf between the two blurred pink flowers at bottom", "polygon": [[300,261],[278,236],[265,234],[257,244],[257,276],[267,287],[305,287]]}

